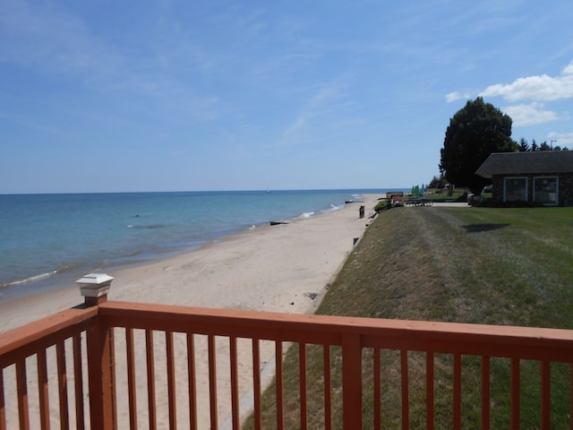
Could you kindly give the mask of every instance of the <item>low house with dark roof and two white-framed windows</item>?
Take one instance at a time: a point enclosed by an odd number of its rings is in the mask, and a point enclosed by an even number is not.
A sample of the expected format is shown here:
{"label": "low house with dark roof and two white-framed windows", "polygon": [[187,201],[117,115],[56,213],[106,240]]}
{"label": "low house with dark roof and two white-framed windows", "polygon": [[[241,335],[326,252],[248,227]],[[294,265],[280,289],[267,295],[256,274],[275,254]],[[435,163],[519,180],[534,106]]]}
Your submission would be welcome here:
{"label": "low house with dark roof and two white-framed windows", "polygon": [[573,203],[573,150],[494,152],[475,174],[492,180],[497,202]]}

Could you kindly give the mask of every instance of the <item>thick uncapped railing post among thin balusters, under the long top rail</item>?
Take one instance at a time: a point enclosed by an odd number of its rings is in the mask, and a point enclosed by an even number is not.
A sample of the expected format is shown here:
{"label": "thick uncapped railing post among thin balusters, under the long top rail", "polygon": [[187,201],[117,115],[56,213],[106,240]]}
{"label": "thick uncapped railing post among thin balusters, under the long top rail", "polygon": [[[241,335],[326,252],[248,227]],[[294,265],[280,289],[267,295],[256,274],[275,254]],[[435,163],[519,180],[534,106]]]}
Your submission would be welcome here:
{"label": "thick uncapped railing post among thin balusters, under the long top rail", "polygon": [[342,334],[342,401],[344,428],[362,428],[362,344],[359,333]]}

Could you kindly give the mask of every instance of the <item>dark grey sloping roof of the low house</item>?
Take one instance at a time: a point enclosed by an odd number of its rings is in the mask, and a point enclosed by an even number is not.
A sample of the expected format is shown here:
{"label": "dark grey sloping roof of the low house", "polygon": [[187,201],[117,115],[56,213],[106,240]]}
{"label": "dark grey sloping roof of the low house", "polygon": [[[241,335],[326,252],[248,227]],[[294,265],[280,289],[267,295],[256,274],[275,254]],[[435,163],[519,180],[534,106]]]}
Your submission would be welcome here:
{"label": "dark grey sloping roof of the low house", "polygon": [[573,150],[494,152],[475,171],[476,175],[541,174],[573,172]]}

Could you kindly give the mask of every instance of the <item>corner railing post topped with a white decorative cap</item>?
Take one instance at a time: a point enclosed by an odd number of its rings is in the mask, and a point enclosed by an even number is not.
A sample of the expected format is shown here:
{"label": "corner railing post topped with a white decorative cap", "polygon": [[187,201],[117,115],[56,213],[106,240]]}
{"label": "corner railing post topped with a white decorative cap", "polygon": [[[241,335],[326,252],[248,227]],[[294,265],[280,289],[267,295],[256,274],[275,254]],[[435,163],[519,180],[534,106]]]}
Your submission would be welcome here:
{"label": "corner railing post topped with a white decorative cap", "polygon": [[[76,283],[87,306],[97,306],[107,301],[111,276],[90,273]],[[88,383],[90,387],[91,428],[116,429],[114,332],[99,317],[90,324],[87,332]]]}

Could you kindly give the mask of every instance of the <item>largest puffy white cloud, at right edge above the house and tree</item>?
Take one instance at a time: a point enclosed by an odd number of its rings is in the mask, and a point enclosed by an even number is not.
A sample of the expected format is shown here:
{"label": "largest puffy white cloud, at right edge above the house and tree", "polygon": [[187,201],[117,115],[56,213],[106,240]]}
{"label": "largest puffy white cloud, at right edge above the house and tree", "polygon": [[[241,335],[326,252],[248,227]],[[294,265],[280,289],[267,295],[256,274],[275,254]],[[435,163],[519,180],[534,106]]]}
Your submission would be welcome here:
{"label": "largest puffy white cloud, at right edge above the house and tree", "polygon": [[560,76],[528,76],[512,83],[497,83],[480,94],[483,97],[501,96],[509,101],[559,100],[573,98],[573,62],[563,69]]}

